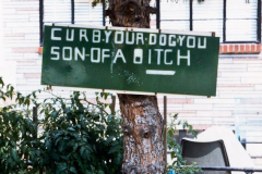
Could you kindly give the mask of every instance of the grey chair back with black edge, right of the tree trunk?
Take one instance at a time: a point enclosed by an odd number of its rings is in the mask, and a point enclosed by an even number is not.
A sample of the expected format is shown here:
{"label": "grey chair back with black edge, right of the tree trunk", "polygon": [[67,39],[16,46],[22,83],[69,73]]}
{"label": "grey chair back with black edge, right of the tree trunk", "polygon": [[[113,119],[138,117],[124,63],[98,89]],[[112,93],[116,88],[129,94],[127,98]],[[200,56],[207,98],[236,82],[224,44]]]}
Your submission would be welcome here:
{"label": "grey chair back with black edge, right of the tree trunk", "polygon": [[[226,148],[222,139],[212,141],[183,138],[181,140],[182,158],[186,164],[196,162],[198,166],[230,166]],[[201,174],[231,174],[230,171],[203,171]]]}

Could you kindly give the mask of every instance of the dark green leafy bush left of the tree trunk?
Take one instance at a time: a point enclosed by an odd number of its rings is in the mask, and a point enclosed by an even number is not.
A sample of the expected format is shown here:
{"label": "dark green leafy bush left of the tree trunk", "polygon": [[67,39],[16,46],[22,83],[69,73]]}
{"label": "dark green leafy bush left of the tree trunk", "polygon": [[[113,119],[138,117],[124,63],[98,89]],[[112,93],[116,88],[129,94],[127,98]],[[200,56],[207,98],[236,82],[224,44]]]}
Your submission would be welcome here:
{"label": "dark green leafy bush left of the tree trunk", "polygon": [[[14,98],[17,104],[0,109],[0,171],[12,173],[105,174],[119,173],[122,162],[120,119],[107,113],[100,99],[91,103],[85,92],[60,98],[48,90],[27,96],[14,94],[0,78],[0,99]],[[5,87],[5,88],[4,88]],[[39,92],[52,97],[38,102]],[[38,111],[33,114],[31,104]],[[41,133],[37,134],[37,129]]]}

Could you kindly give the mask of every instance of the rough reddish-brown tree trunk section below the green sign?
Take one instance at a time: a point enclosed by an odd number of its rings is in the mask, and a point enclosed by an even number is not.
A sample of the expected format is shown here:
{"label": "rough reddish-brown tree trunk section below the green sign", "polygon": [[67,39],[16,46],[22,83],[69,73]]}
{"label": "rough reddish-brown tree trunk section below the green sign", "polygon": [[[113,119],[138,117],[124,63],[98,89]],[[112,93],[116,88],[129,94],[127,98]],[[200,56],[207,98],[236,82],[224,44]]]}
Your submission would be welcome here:
{"label": "rough reddish-brown tree trunk section below the green sign", "polygon": [[122,113],[123,174],[165,172],[163,119],[155,96],[118,95]]}

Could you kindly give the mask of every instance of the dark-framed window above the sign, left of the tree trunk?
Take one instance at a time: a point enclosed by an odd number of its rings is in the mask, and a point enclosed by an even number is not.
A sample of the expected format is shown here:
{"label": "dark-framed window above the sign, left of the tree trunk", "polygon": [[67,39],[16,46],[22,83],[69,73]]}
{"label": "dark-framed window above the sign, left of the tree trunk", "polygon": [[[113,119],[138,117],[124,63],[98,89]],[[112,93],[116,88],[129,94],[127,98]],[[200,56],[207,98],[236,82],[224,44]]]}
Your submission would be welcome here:
{"label": "dark-framed window above the sign, left of the tree trunk", "polygon": [[40,45],[43,44],[44,25],[60,24],[105,24],[103,4],[92,7],[88,0],[40,0]]}

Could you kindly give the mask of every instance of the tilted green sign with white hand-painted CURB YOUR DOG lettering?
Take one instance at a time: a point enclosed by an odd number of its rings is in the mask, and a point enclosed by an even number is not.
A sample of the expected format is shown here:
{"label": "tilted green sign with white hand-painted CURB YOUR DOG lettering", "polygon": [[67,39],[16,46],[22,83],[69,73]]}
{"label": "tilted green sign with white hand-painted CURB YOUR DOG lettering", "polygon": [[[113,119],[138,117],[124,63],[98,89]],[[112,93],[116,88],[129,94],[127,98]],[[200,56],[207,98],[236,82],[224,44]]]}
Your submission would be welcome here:
{"label": "tilted green sign with white hand-painted CURB YOUR DOG lettering", "polygon": [[41,84],[215,96],[218,49],[211,36],[45,26]]}

